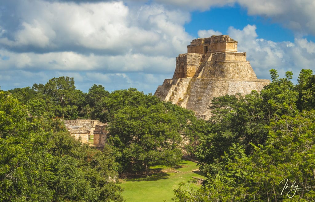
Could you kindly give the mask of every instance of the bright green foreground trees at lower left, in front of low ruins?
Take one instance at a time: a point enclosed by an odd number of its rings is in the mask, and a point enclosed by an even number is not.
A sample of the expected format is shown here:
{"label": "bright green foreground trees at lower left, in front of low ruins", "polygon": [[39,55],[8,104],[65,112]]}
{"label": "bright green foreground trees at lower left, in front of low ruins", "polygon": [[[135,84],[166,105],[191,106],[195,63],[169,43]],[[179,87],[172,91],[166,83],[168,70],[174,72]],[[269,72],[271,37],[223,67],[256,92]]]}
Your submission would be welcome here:
{"label": "bright green foreground trees at lower left, in front of low ruins", "polygon": [[82,145],[60,119],[0,92],[0,201],[123,201],[114,151]]}

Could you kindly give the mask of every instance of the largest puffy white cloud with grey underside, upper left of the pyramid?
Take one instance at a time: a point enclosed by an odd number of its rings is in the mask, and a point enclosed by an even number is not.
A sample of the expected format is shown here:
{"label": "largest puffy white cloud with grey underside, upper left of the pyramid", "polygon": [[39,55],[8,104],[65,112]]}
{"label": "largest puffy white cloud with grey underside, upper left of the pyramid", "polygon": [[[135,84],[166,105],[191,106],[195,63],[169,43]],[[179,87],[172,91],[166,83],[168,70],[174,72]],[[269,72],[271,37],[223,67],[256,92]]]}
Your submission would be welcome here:
{"label": "largest puffy white cloud with grey underside, upper left of the pyramid", "polygon": [[157,4],[130,10],[123,2],[18,2],[20,29],[0,38],[0,44],[14,51],[174,56],[191,40],[183,29],[189,13]]}

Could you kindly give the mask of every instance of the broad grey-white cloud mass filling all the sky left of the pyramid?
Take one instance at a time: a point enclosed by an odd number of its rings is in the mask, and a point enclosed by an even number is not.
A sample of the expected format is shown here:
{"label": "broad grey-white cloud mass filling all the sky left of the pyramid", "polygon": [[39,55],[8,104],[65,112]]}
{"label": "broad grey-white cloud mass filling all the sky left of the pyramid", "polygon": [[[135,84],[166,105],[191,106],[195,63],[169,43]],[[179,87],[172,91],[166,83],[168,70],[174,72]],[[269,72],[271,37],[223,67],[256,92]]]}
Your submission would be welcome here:
{"label": "broad grey-white cloud mass filling all the sky left of the pyramid", "polygon": [[172,76],[175,57],[192,40],[183,27],[190,14],[156,3],[131,2],[18,0],[4,4],[2,89],[67,75],[85,90],[104,82],[110,89],[138,86],[152,92]]}

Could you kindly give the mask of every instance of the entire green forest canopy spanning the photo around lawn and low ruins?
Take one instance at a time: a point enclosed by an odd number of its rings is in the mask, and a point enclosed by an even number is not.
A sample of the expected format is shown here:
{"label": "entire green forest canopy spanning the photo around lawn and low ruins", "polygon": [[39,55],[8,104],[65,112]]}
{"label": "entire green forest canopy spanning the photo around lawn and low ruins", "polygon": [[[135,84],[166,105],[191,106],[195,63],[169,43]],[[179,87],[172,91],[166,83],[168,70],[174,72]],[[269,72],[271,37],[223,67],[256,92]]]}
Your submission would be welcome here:
{"label": "entire green forest canopy spanning the photo around lawn and low ruins", "polygon": [[[83,93],[69,77],[0,90],[0,200],[122,201],[118,172],[148,174],[185,151],[206,181],[182,183],[174,201],[314,201],[315,75],[270,74],[261,92],[213,99],[209,121],[134,88]],[[60,117],[109,122],[108,144],[82,145]]]}

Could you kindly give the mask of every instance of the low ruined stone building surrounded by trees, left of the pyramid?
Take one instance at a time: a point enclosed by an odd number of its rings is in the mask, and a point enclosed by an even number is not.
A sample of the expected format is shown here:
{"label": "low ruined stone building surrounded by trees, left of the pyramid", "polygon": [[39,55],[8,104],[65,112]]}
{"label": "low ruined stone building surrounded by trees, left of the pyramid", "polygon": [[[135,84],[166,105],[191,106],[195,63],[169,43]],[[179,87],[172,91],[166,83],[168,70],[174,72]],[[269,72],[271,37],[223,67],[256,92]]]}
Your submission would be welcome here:
{"label": "low ruined stone building surrounded by trees, left of the pyramid", "polygon": [[65,120],[64,122],[70,134],[76,139],[81,139],[82,143],[89,143],[90,135],[94,135],[93,145],[104,147],[108,124],[91,119]]}

